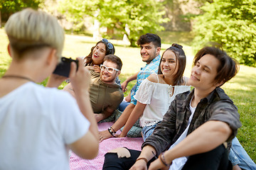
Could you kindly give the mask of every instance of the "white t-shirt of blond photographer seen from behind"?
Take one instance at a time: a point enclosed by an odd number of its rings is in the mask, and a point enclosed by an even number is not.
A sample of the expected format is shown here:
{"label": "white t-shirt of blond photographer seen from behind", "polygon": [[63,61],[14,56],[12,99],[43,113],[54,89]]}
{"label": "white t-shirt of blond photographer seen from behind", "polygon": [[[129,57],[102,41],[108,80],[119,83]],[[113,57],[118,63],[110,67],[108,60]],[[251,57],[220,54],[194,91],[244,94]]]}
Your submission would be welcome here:
{"label": "white t-shirt of blond photographer seen from behind", "polygon": [[0,98],[0,169],[69,169],[90,122],[66,91],[28,82]]}

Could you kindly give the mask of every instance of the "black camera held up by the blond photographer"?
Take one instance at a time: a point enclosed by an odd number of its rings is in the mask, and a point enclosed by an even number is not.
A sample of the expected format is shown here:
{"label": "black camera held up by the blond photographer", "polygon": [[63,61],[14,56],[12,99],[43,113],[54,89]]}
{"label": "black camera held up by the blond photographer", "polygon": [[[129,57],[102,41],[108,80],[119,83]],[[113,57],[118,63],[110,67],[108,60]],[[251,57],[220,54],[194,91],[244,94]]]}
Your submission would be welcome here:
{"label": "black camera held up by the blond photographer", "polygon": [[60,63],[58,63],[57,67],[53,71],[53,74],[58,74],[63,77],[69,77],[71,62],[75,62],[77,64],[77,71],[78,71],[78,60],[61,57]]}

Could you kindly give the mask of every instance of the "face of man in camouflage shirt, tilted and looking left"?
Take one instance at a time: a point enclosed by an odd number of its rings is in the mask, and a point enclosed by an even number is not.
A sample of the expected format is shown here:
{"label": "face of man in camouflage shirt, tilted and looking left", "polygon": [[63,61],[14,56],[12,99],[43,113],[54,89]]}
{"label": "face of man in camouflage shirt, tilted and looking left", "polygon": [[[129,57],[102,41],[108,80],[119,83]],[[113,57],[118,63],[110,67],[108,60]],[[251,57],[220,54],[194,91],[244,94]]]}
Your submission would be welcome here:
{"label": "face of man in camouflage shirt, tilted and looking left", "polygon": [[195,89],[210,93],[219,86],[215,81],[219,65],[220,61],[213,55],[203,55],[193,67],[188,84],[194,86]]}

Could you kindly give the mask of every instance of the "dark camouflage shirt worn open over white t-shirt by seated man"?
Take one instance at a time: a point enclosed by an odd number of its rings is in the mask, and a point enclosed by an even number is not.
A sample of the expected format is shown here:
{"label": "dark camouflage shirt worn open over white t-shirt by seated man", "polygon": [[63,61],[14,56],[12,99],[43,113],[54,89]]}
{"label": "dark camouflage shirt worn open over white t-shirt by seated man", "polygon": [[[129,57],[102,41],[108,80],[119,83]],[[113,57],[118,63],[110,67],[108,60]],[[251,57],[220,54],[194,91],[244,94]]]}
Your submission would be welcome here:
{"label": "dark camouflage shirt worn open over white t-shirt by seated man", "polygon": [[[176,96],[164,115],[163,121],[156,126],[153,134],[142,144],[142,148],[145,145],[151,145],[156,149],[156,153],[160,154],[178,140],[188,125],[188,118],[191,115],[189,105],[193,94],[194,89]],[[233,134],[227,140],[230,148],[231,140],[241,127],[239,118],[238,108],[223,89],[218,87],[198,103],[188,134],[208,120],[219,120],[228,123],[233,130]]]}

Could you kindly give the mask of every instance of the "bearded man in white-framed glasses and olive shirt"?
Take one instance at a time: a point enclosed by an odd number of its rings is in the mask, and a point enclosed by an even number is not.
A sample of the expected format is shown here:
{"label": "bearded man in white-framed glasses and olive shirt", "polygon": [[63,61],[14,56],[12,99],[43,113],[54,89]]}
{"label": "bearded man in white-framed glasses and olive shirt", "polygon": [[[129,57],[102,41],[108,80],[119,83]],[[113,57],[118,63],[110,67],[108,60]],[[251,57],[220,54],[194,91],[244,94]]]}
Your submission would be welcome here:
{"label": "bearded man in white-framed glasses and olive shirt", "polygon": [[[100,77],[96,72],[91,72],[90,102],[97,122],[108,118],[124,98],[122,87],[116,83],[122,69],[122,61],[116,55],[106,55],[100,65]],[[68,84],[65,91],[75,96],[72,86]]]}

